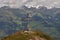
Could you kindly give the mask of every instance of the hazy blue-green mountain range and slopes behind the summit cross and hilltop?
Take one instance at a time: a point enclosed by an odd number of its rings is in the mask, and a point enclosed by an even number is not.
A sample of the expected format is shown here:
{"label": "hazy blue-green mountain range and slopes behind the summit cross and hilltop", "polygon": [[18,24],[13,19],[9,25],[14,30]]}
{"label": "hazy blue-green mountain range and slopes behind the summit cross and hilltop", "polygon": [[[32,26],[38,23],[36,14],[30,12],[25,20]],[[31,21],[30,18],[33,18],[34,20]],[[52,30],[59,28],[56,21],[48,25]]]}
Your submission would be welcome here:
{"label": "hazy blue-green mountain range and slopes behind the summit cross and hilltop", "polygon": [[26,13],[31,13],[34,21],[30,22],[32,30],[41,30],[49,35],[60,38],[60,8],[47,9],[46,7],[36,8],[0,8],[0,37],[26,30]]}

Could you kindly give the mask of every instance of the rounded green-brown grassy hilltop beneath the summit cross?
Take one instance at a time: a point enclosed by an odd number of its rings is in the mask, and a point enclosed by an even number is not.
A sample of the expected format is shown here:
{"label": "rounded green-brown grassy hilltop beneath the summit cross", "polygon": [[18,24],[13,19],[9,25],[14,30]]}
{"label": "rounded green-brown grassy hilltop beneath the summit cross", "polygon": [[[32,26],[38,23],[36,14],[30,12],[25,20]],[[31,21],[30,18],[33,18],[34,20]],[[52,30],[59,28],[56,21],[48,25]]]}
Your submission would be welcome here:
{"label": "rounded green-brown grassy hilltop beneath the summit cross", "polygon": [[38,31],[20,31],[2,40],[54,40],[52,37]]}

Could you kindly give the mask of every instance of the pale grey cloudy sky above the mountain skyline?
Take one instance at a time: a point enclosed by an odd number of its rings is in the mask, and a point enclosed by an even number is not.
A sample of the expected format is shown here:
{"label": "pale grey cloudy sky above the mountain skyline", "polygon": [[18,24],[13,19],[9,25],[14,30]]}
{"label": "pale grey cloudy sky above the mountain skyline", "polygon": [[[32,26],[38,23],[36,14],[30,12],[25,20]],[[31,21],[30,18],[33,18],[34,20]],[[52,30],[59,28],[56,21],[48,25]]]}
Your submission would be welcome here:
{"label": "pale grey cloudy sky above the mountain skyline", "polygon": [[0,7],[7,5],[7,3],[11,7],[21,7],[22,5],[28,7],[46,6],[47,8],[60,7],[60,0],[0,0]]}

